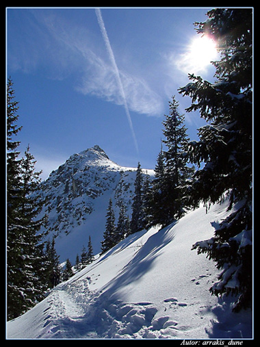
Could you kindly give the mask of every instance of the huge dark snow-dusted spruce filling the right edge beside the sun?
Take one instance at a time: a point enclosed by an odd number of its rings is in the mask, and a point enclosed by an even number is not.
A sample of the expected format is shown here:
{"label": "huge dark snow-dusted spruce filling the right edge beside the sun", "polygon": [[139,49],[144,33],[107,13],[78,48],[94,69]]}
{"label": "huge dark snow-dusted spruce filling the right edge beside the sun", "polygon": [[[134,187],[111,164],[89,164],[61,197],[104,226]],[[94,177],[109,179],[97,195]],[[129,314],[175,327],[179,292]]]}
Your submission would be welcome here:
{"label": "huge dark snow-dusted spruce filling the right edge beside the sun", "polygon": [[180,88],[192,99],[187,111],[199,110],[209,122],[199,129],[200,140],[190,142],[190,160],[205,163],[190,196],[194,205],[218,203],[225,194],[229,210],[238,204],[214,237],[194,248],[222,269],[211,293],[235,296],[238,311],[252,303],[252,10],[218,8],[207,16],[196,30],[213,38],[221,53],[213,62],[216,81],[189,75],[192,82]]}

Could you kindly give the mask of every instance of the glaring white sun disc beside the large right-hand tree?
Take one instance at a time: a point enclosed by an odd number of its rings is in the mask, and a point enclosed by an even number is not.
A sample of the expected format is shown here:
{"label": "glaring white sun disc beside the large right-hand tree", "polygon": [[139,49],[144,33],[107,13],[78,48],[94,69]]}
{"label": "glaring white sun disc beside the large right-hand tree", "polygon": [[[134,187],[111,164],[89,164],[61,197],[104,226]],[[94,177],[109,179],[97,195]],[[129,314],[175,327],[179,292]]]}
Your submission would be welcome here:
{"label": "glaring white sun disc beside the large right-hand tree", "polygon": [[188,55],[191,60],[190,63],[196,69],[203,70],[213,60],[216,60],[218,51],[215,42],[211,38],[203,36],[192,40]]}

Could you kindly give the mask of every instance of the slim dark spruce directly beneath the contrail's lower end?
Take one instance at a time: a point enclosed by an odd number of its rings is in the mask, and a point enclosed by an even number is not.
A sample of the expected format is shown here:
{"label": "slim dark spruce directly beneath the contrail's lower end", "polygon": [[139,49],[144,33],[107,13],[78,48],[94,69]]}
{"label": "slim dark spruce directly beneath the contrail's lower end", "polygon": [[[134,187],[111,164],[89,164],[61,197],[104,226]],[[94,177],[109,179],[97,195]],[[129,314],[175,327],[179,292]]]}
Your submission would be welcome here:
{"label": "slim dark spruce directly beneath the contrail's lower end", "polygon": [[142,205],[142,170],[141,165],[138,162],[138,169],[136,170],[135,177],[135,192],[133,196],[132,204],[132,218],[130,222],[130,233],[136,233],[144,229],[144,211]]}

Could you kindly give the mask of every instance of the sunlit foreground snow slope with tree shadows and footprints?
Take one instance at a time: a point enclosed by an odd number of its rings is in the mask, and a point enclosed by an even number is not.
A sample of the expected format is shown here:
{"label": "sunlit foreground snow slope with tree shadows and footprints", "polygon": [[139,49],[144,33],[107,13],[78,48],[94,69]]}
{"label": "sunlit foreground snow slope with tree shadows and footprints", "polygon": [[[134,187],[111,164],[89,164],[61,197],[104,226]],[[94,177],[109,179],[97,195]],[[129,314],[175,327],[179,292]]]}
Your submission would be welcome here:
{"label": "sunlit foreground snow slope with tree shadows and footprints", "polygon": [[250,311],[211,296],[219,271],[192,244],[232,211],[200,207],[158,231],[127,237],[8,322],[11,339],[250,338]]}

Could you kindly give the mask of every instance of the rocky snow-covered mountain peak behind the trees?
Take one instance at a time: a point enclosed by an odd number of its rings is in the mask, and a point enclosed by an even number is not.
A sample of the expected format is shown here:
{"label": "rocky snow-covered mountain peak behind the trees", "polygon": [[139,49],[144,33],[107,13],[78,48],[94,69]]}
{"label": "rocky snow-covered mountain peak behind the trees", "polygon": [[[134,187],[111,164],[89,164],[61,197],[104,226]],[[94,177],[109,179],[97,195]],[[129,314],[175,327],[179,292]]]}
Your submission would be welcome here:
{"label": "rocky snow-covered mountain peak behind the trees", "polygon": [[[71,155],[40,185],[45,203],[41,216],[48,215],[47,238],[55,235],[60,261],[74,263],[82,246],[92,239],[94,253],[99,253],[105,231],[109,198],[118,216],[120,204],[131,216],[136,168],[112,162],[99,146]],[[153,170],[142,170],[153,177]]]}

